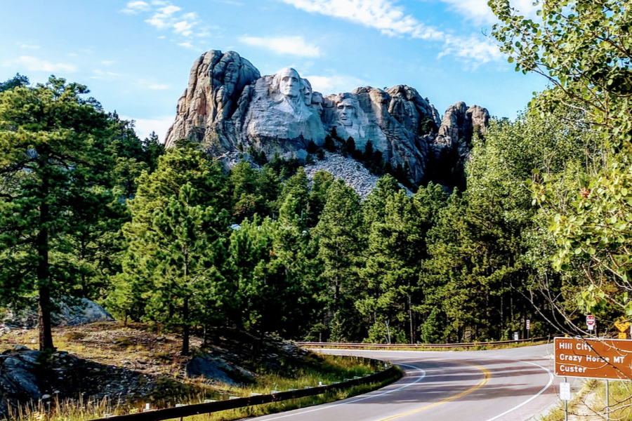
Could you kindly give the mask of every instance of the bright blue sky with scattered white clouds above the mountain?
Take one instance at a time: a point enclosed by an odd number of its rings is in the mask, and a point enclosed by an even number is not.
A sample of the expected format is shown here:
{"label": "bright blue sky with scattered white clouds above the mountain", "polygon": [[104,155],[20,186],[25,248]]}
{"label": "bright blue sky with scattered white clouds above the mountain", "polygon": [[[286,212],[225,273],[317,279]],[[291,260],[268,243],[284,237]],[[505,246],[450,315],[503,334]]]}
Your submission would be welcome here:
{"label": "bright blue sky with scattered white clouds above the mountain", "polygon": [[[513,0],[534,15],[532,0]],[[237,51],[261,74],[291,66],[316,91],[413,86],[440,114],[465,101],[513,119],[544,79],[488,39],[487,0],[0,0],[0,81],[84,83],[161,140],[192,63]]]}

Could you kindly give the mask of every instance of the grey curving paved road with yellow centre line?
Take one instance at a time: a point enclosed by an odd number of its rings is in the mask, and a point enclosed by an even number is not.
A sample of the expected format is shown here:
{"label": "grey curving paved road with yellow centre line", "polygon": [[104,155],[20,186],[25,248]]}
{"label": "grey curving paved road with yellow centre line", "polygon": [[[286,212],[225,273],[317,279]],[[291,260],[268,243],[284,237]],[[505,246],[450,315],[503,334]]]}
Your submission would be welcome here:
{"label": "grey curving paved road with yellow centre line", "polygon": [[553,345],[496,351],[319,350],[392,361],[399,381],[369,394],[256,420],[525,421],[556,401]]}

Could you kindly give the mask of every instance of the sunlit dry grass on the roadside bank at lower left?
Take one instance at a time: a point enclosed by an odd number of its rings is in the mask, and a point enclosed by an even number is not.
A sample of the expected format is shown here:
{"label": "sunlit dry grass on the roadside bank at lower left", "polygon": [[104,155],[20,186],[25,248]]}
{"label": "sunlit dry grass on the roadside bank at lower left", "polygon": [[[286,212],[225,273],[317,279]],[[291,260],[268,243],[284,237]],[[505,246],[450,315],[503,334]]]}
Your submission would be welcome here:
{"label": "sunlit dry grass on the roadside bank at lower left", "polygon": [[[53,399],[48,402],[34,402],[11,414],[15,421],[85,421],[105,414],[122,415],[138,412],[144,408],[145,402],[152,408],[165,408],[176,403],[201,403],[204,399],[222,400],[228,396],[250,396],[252,393],[269,394],[272,390],[303,389],[305,386],[316,386],[319,382],[331,384],[341,382],[345,378],[374,373],[376,367],[364,359],[340,356],[317,356],[310,354],[301,363],[289,363],[272,370],[269,367],[256,366],[251,363],[249,369],[255,373],[254,379],[244,381],[242,385],[230,386],[220,382],[209,382],[200,379],[189,379],[184,368],[187,359],[178,355],[177,335],[164,335],[164,340],[157,341],[157,333],[150,333],[142,326],[124,327],[116,323],[96,323],[77,328],[58,328],[54,331],[55,345],[58,349],[70,352],[85,361],[100,364],[101,376],[105,377],[110,368],[124,368],[140,373],[140,380],[157,384],[152,396],[129,396],[121,401],[95,395],[90,399]],[[12,333],[0,338],[0,352],[11,349],[13,345],[34,347],[37,331],[22,331],[19,335]],[[192,340],[197,344],[199,338]],[[104,369],[105,368],[105,369]],[[399,378],[399,375],[396,377]],[[235,420],[242,417],[276,413],[283,410],[302,408],[345,399],[362,394],[393,382],[389,379],[379,384],[362,385],[338,392],[329,392],[303,399],[294,399],[280,403],[223,411],[211,415],[199,415],[204,420]],[[95,379],[99,382],[103,379]],[[244,379],[246,380],[246,379]],[[73,397],[73,396],[70,396]]]}

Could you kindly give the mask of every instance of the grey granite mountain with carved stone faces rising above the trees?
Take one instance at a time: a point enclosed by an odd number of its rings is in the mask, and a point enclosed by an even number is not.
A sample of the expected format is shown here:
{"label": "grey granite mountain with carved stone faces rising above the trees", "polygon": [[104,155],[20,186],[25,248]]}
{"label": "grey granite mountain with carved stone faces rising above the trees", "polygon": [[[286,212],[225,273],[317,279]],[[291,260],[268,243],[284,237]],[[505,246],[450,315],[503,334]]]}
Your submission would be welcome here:
{"label": "grey granite mountain with carved stone faces rising above the trees", "polygon": [[254,147],[269,157],[304,158],[309,142],[323,145],[335,128],[357,149],[371,140],[393,168],[409,168],[416,185],[462,165],[475,127],[484,132],[489,121],[487,109],[463,102],[440,119],[427,98],[404,85],[324,96],[291,67],[261,76],[239,54],[217,50],[194,63],[176,113],[166,147],[188,138],[214,156]]}

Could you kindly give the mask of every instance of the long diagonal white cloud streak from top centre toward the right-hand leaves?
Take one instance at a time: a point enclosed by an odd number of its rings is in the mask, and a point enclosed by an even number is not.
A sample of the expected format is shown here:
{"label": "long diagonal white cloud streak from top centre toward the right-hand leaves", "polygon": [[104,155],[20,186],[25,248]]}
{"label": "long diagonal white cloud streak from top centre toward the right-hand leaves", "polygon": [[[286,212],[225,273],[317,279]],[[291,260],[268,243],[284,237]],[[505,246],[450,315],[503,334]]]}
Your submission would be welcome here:
{"label": "long diagonal white cloud streak from top centre toward the right-hand leaves", "polygon": [[[454,36],[440,29],[424,25],[414,16],[406,14],[404,8],[395,6],[389,0],[281,0],[284,3],[309,12],[341,18],[366,27],[378,29],[388,36],[409,36],[412,39],[426,39],[443,43],[444,55],[455,55],[467,62],[480,65],[503,57],[498,48],[489,39],[482,36],[463,37]],[[468,8],[485,6],[484,11],[478,11],[487,18],[487,0],[442,0],[449,4],[458,5],[463,1],[464,6],[459,11],[466,13]],[[532,0],[518,0],[520,4]],[[491,13],[491,11],[489,11]]]}

